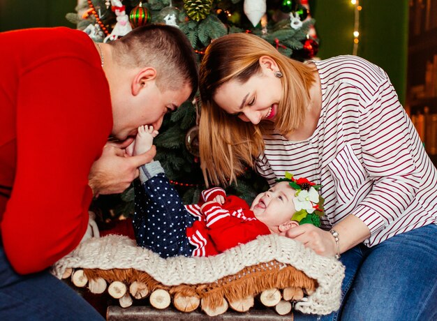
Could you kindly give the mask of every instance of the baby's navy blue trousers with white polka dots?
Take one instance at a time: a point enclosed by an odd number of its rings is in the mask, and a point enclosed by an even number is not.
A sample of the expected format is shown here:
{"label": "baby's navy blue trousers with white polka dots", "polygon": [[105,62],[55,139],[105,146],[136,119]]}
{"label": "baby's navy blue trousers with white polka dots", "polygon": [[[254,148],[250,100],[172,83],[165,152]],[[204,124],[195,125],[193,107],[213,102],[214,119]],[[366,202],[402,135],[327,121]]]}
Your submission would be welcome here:
{"label": "baby's navy blue trousers with white polka dots", "polygon": [[165,174],[156,174],[143,184],[136,179],[134,190],[133,229],[137,244],[161,257],[191,256],[193,247],[186,237],[186,227],[196,219],[186,211]]}

